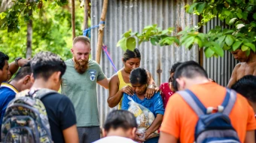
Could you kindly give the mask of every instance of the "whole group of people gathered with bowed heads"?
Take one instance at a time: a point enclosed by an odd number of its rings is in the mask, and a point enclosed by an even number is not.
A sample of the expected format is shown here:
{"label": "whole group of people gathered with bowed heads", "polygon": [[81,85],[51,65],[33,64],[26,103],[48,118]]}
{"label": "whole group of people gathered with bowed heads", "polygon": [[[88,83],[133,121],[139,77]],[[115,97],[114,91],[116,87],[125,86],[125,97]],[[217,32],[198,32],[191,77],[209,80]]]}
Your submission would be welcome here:
{"label": "whole group of people gathered with bowed heads", "polygon": [[[8,55],[0,52],[3,142],[30,142],[32,138],[58,143],[255,142],[253,52],[249,56],[242,50],[233,52],[240,62],[227,87],[209,79],[194,61],[173,64],[169,81],[157,87],[150,71],[139,67],[138,49],[126,50],[123,68],[107,78],[100,65],[89,59],[90,39],[85,36],[74,39],[71,52],[72,59],[66,61],[55,53],[39,52],[32,59],[18,57],[10,64]],[[96,84],[109,91],[108,106],[118,106],[108,114],[102,130]],[[26,102],[29,98],[31,102]],[[39,109],[40,116],[32,114],[37,99],[44,105],[46,117],[41,116],[44,108]],[[24,101],[26,105],[22,105]],[[33,130],[36,117],[44,117],[42,124],[49,126],[42,126],[50,133]]]}

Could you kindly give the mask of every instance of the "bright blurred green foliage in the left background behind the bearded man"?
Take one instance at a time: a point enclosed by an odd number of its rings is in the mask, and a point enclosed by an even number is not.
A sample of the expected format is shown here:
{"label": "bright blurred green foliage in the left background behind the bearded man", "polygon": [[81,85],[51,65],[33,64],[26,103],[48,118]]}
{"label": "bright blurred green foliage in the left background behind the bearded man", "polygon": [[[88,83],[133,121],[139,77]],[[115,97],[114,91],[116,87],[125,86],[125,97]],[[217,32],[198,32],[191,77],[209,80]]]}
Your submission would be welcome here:
{"label": "bright blurred green foliage in the left background behind the bearded man", "polygon": [[[76,5],[76,33],[82,35],[84,10]],[[51,51],[63,59],[72,57],[71,12],[68,6],[44,2],[44,7],[35,9],[32,16],[32,55],[39,51]],[[0,50],[13,61],[17,56],[26,56],[26,20],[20,20],[19,32],[0,31]]]}

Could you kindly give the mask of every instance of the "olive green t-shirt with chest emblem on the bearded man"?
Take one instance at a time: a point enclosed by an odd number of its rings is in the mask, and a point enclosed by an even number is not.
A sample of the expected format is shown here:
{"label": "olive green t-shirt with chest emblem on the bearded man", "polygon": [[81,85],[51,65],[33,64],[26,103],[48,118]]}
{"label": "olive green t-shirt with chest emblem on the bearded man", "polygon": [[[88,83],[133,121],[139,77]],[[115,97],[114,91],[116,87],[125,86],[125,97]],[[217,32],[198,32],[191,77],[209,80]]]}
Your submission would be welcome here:
{"label": "olive green t-shirt with chest emblem on the bearded man", "polygon": [[105,79],[102,68],[93,60],[84,74],[75,70],[72,59],[66,60],[66,72],[62,76],[61,92],[71,99],[77,116],[77,126],[99,126],[97,106],[97,81]]}

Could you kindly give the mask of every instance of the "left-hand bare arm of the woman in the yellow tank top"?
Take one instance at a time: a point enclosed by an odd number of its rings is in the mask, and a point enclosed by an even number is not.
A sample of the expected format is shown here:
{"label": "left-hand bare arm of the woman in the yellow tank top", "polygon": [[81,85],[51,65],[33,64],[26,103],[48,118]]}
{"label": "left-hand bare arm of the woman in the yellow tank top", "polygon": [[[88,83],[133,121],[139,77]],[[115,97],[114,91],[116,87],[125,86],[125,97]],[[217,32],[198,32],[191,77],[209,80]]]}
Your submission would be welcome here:
{"label": "left-hand bare arm of the woman in the yellow tank top", "polygon": [[114,75],[109,81],[108,87],[108,106],[114,108],[123,97],[123,93],[127,93],[130,96],[133,95],[133,88],[130,86],[123,87],[119,90],[119,79],[117,75]]}

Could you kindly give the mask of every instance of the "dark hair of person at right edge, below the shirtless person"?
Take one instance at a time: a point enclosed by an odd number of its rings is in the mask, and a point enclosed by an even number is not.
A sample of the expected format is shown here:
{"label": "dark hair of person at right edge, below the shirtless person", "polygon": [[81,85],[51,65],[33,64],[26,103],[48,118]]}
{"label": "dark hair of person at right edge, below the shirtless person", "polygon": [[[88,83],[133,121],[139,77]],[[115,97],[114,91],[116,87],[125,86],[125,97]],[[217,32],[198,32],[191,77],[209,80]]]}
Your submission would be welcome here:
{"label": "dark hair of person at right edge, below the shirtless person", "polygon": [[231,89],[236,90],[237,93],[240,93],[249,101],[256,103],[256,76],[245,75],[236,84],[233,84]]}

